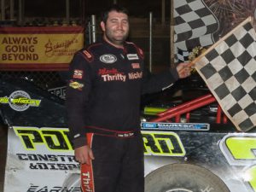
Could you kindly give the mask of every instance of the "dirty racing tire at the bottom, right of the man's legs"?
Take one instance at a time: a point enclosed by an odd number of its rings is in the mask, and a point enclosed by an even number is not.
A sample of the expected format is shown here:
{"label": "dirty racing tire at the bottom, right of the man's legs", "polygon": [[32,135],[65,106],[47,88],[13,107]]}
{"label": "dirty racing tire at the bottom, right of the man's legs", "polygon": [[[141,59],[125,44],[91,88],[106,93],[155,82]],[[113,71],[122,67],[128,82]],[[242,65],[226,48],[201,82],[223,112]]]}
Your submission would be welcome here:
{"label": "dirty racing tire at the bottom, right of the man's legs", "polygon": [[150,172],[145,192],[230,192],[225,183],[204,167],[171,164]]}

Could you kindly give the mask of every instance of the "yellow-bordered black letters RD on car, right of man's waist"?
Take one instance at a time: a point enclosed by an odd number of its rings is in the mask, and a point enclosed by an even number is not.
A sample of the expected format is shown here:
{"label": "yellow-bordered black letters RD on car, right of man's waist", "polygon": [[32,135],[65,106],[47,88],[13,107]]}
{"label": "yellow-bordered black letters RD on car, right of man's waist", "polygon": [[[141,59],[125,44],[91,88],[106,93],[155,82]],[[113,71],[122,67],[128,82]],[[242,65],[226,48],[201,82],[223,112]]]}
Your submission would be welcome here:
{"label": "yellow-bordered black letters RD on car, right of man's waist", "polygon": [[186,154],[183,143],[175,132],[142,131],[144,155],[181,156]]}

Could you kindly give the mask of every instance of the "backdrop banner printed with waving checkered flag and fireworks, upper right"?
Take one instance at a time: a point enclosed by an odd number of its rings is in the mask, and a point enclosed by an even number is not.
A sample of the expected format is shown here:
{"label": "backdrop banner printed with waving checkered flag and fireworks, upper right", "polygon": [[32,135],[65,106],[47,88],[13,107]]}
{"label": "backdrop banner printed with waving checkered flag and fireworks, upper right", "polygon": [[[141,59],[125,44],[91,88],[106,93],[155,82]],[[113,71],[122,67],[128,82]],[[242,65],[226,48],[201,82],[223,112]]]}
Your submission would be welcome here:
{"label": "backdrop banner printed with waving checkered flag and fireworks, upper right", "polygon": [[192,49],[210,47],[256,14],[252,0],[173,0],[173,7],[176,62],[189,61]]}

